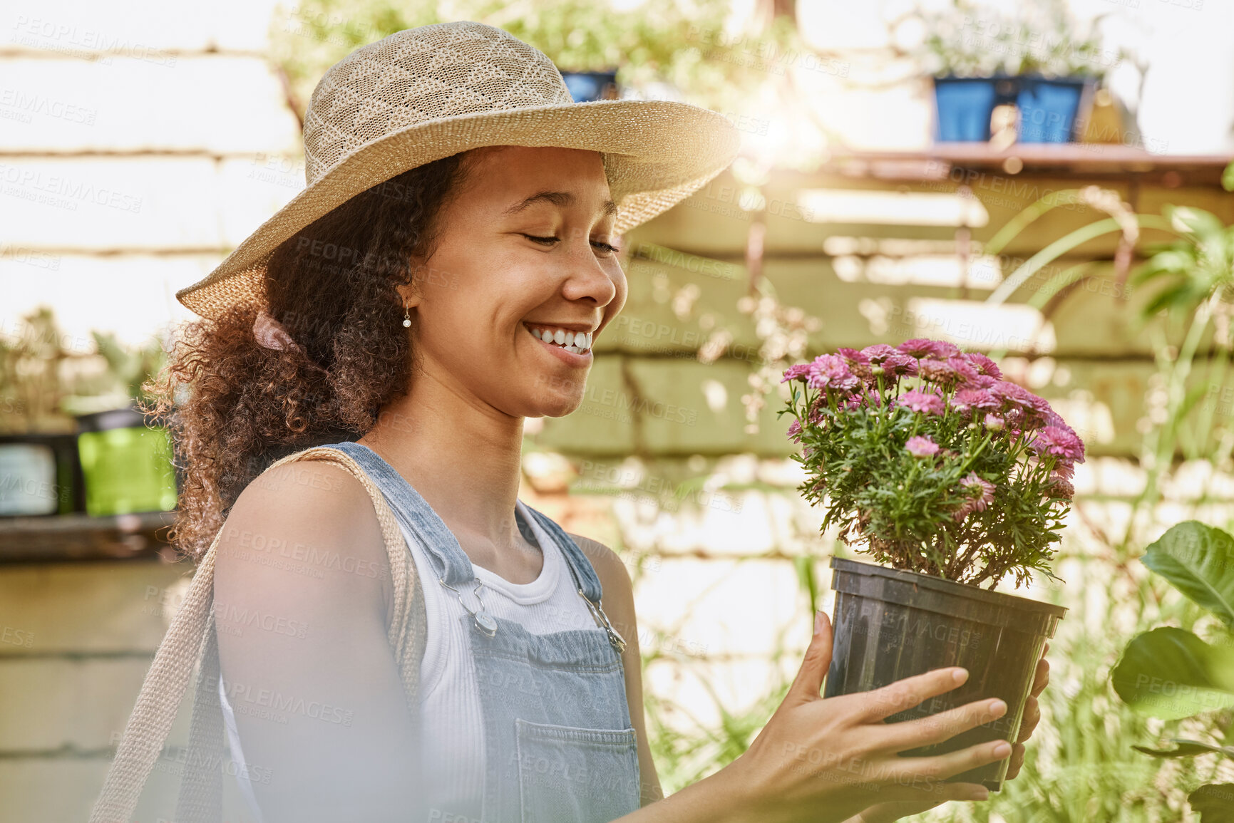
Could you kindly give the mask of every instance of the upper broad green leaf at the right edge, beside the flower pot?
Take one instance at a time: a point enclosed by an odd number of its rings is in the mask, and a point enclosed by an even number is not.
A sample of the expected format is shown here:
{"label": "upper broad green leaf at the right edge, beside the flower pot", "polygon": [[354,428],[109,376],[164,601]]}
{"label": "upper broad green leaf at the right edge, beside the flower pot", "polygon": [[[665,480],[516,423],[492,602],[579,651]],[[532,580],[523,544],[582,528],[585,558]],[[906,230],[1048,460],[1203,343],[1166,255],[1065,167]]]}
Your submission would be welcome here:
{"label": "upper broad green leaf at the right edge, beside the flower pot", "polygon": [[1199,521],[1174,526],[1140,560],[1234,627],[1234,537]]}

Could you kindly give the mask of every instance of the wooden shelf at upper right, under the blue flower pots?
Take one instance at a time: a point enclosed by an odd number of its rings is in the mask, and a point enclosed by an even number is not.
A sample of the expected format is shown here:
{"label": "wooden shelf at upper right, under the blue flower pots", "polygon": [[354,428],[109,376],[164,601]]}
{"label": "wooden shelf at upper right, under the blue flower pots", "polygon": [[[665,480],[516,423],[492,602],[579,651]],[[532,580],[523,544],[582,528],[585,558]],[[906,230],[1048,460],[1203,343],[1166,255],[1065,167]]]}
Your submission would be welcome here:
{"label": "wooden shelf at upper right, under the blue flower pots", "polygon": [[1145,184],[1174,189],[1183,185],[1220,186],[1230,163],[1224,154],[1154,154],[1120,143],[937,143],[916,152],[851,152],[834,154],[823,165],[830,174],[885,180],[953,180],[966,173],[1000,176],[1134,176]]}

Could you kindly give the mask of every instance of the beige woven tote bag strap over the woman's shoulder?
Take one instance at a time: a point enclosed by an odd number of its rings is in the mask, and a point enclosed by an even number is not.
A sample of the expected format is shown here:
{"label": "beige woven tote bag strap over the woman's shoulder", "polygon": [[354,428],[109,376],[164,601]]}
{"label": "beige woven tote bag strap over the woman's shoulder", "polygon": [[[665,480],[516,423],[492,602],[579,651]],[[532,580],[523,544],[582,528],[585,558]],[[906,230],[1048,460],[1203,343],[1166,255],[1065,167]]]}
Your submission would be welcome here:
{"label": "beige woven tote bag strap over the woman's shoulder", "polygon": [[[390,628],[386,639],[394,650],[402,677],[407,709],[418,734],[420,661],[424,650],[424,603],[415,560],[385,496],[364,470],[341,449],[312,447],[276,460],[270,468],[296,460],[327,460],[347,469],[373,501],[390,560],[394,586]],[[215,553],[222,528],[215,534],[197,565],[184,605],[168,627],[154,654],[137,703],[116,756],[107,770],[102,790],[90,812],[90,823],[130,823],[149,772],[163,750],[180,701],[195,668],[199,669],[194,695],[193,723],[180,797],[178,819],[189,823],[217,823],[221,818],[222,792],[222,711],[218,702],[218,645],[212,619]],[[197,664],[201,664],[200,668]],[[216,758],[211,755],[217,753]],[[204,771],[215,774],[202,774]],[[418,764],[416,774],[420,774]],[[181,817],[186,814],[186,817]]]}

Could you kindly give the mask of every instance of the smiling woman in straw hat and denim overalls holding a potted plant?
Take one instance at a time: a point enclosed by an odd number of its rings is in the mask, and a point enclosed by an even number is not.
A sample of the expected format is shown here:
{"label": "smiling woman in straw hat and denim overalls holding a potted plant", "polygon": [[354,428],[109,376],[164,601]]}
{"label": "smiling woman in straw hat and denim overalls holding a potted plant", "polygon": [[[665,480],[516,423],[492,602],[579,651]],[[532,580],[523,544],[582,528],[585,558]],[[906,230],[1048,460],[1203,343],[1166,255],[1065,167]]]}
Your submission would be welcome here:
{"label": "smiling woman in straw hat and denim overalls holding a potted plant", "polygon": [[[819,613],[749,751],[661,798],[624,565],[517,500],[523,420],[578,408],[624,305],[618,234],[727,165],[721,117],[571,104],[540,52],[459,22],[341,62],[305,132],[306,191],[178,294],[209,320],[164,386],[194,386],[174,422],[178,540],[200,556],[217,532],[218,687],[232,756],[262,776],[242,781],[254,817],[872,823],[985,797],[940,780],[1009,744],[897,753],[1006,707],[882,723],[963,682],[958,669],[822,700]],[[380,487],[413,555],[418,734],[368,494],[338,465],[268,468],[321,444]],[[1034,695],[1044,685],[1043,660]],[[1035,722],[1030,701],[1022,738]],[[1017,742],[1009,774],[1022,756]]]}

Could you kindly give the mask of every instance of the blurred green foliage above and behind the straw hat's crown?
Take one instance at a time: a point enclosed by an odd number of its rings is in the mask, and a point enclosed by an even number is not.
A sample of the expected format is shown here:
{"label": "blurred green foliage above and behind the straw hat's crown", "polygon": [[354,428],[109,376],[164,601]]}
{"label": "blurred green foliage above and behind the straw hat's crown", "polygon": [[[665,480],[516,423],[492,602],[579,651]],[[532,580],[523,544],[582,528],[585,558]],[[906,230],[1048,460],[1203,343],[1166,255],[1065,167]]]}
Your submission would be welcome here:
{"label": "blurred green foliage above and behind the straw hat's crown", "polygon": [[780,17],[760,36],[723,35],[727,0],[597,10],[592,0],[306,0],[276,15],[271,53],[304,114],[327,68],[405,28],[474,20],[508,31],[563,72],[617,70],[618,85],[668,81],[690,102],[742,111],[750,95],[810,53]]}

